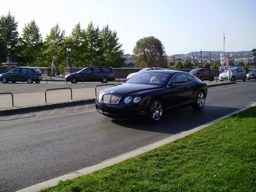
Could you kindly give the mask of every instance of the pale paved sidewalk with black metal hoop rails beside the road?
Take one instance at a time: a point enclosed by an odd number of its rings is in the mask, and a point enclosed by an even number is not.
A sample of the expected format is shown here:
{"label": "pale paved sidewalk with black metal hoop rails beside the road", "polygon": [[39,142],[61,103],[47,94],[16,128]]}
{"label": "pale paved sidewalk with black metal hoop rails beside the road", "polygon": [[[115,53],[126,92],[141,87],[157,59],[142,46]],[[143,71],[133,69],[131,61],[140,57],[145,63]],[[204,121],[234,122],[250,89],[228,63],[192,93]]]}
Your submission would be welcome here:
{"label": "pale paved sidewalk with black metal hoop rails beside the road", "polygon": [[[50,78],[50,77],[49,77]],[[45,78],[44,78],[45,79]],[[62,76],[55,76],[48,81],[65,81],[62,80]],[[125,79],[120,79],[120,83],[124,82]],[[115,82],[118,82],[116,80]],[[217,82],[216,81],[204,81],[207,83],[208,87],[218,86],[224,84],[234,84],[235,82]],[[108,82],[111,83],[111,82]],[[105,88],[106,86],[98,87],[97,93]],[[83,88],[83,89],[72,89],[72,99],[71,99],[71,90],[50,90],[46,92],[45,102],[45,90],[42,92],[33,92],[33,93],[21,93],[13,95],[12,106],[12,96],[10,94],[0,95],[0,115],[9,114],[9,113],[19,113],[27,112],[33,110],[41,110],[47,108],[56,108],[60,106],[68,105],[77,105],[82,103],[92,103],[95,101],[95,88]],[[3,92],[3,91],[2,91]]]}

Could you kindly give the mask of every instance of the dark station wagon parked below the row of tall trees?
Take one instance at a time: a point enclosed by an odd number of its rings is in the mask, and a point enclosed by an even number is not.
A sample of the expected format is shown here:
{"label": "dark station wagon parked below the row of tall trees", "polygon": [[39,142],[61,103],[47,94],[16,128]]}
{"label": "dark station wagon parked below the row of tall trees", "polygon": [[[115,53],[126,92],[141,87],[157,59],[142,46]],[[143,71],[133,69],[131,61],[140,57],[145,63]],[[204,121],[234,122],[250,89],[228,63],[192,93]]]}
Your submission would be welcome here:
{"label": "dark station wagon parked below the row of tall trees", "polygon": [[115,80],[115,73],[111,67],[86,67],[77,73],[71,73],[65,76],[67,82],[89,82],[100,81],[101,83],[108,83],[108,81]]}

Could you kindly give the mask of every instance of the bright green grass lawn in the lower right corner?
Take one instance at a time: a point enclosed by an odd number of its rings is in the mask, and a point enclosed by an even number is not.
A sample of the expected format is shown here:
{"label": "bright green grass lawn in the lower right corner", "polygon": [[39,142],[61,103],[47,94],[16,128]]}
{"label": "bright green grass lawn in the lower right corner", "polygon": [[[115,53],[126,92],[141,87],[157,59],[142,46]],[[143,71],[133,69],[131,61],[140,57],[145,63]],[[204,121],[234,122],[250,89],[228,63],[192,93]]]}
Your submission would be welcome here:
{"label": "bright green grass lawn in the lower right corner", "polygon": [[41,191],[256,191],[256,107]]}

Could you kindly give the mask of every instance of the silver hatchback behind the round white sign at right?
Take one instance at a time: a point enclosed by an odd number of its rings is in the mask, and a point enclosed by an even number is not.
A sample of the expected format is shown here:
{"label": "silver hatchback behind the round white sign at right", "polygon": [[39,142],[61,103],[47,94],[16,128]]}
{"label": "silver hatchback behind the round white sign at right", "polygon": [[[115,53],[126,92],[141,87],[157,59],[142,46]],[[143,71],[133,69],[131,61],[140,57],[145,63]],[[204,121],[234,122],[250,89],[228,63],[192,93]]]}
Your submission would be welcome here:
{"label": "silver hatchback behind the round white sign at right", "polygon": [[231,75],[229,76],[231,81],[235,81],[237,79],[243,79],[243,81],[246,81],[246,73],[242,68],[228,68],[225,72],[219,75],[220,81],[228,80],[227,73],[229,70],[231,71]]}

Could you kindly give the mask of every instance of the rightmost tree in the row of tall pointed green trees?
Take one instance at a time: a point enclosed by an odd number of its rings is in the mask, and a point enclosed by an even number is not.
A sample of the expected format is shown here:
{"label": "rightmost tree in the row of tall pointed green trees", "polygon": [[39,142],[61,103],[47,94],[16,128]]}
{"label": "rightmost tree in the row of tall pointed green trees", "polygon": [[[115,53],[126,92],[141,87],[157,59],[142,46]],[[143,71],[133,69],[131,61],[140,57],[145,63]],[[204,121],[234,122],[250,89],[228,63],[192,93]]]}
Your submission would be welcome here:
{"label": "rightmost tree in the row of tall pointed green trees", "polygon": [[106,25],[101,31],[101,65],[120,68],[124,65],[124,50],[118,42],[117,32],[109,29]]}

